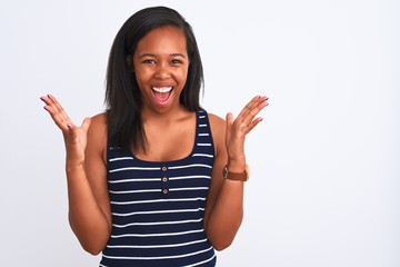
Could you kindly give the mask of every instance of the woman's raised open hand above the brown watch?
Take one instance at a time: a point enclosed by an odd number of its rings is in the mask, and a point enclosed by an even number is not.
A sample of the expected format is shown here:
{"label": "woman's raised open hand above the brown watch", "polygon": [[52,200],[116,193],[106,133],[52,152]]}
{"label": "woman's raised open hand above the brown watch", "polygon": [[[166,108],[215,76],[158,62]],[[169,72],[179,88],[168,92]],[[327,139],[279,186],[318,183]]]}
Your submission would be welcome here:
{"label": "woman's raised open hand above the brown watch", "polygon": [[228,151],[228,168],[236,172],[243,171],[246,167],[244,139],[262,118],[256,117],[268,106],[268,97],[257,96],[233,119],[231,112],[227,113],[226,146]]}

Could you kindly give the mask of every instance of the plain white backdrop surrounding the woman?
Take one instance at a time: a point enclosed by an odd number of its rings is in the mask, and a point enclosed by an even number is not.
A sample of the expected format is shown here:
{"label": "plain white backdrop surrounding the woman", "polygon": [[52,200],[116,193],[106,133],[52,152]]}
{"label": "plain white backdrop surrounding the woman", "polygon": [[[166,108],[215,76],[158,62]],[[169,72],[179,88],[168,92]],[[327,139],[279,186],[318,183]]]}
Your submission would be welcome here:
{"label": "plain white backdrop surrounding the woman", "polygon": [[164,4],[194,29],[209,112],[270,97],[218,266],[400,266],[399,3],[1,0],[1,264],[98,266],[68,225],[63,141],[39,97],[76,123],[102,112],[117,31]]}

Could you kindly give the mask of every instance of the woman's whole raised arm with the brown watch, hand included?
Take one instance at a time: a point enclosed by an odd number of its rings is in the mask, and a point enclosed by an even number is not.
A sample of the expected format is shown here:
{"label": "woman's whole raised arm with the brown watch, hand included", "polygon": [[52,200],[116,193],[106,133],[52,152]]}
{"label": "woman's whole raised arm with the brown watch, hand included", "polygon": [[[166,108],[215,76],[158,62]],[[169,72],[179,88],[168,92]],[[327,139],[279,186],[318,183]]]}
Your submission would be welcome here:
{"label": "woman's whole raised arm with the brown watch, hand included", "polygon": [[216,161],[204,212],[204,230],[217,250],[230,246],[243,218],[244,182],[222,178],[222,169],[243,172],[246,168],[244,138],[260,121],[256,116],[268,106],[267,97],[254,97],[233,120],[224,122],[210,116],[216,145]]}

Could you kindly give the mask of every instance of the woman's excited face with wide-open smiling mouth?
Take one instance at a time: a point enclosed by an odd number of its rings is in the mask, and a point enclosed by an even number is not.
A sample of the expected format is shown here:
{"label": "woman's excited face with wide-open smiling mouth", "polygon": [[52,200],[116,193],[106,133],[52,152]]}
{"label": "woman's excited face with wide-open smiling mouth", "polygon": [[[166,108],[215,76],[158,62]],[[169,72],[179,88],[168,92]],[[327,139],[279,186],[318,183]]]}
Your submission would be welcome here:
{"label": "woman's excited face with wide-open smiling mouth", "polygon": [[166,26],[148,32],[139,41],[132,61],[143,109],[167,112],[180,107],[189,69],[186,38],[180,29]]}

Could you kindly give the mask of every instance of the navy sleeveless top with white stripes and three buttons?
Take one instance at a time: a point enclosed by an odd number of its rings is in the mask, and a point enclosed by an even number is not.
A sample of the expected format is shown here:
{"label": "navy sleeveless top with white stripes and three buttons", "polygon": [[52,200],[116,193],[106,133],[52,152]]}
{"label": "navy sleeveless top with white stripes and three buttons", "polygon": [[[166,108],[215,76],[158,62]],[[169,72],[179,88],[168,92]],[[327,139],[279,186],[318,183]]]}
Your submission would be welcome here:
{"label": "navy sleeveless top with white stripes and three buttons", "polygon": [[183,159],[146,161],[108,146],[112,231],[100,266],[216,266],[203,229],[214,146],[208,113],[196,116],[193,149]]}

